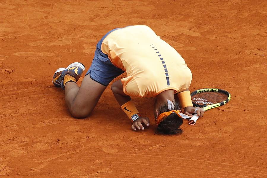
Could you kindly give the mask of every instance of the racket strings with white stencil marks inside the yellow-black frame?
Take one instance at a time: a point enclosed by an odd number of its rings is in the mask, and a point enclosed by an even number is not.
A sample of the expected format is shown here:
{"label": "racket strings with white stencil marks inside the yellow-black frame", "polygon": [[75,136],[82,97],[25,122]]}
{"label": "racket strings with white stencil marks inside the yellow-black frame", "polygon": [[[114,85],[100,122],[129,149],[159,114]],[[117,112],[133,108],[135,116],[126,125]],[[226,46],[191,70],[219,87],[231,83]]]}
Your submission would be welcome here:
{"label": "racket strings with white stencil marks inside the yellow-black frame", "polygon": [[210,105],[220,103],[228,98],[225,93],[203,92],[191,96],[192,101],[198,105]]}

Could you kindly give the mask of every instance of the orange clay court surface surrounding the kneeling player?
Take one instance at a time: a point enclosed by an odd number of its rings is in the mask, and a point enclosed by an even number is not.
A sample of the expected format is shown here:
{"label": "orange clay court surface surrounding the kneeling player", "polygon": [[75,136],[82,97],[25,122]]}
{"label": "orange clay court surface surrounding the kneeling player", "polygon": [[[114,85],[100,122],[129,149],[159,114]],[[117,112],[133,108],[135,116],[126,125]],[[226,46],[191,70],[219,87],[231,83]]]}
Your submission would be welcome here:
{"label": "orange clay court surface surrounding the kneeling player", "polygon": [[[0,0],[0,177],[267,177],[266,16],[260,0]],[[153,98],[133,99],[150,126],[132,131],[110,85],[89,117],[71,117],[54,71],[87,71],[104,34],[138,24],[182,55],[190,91],[231,101],[178,136],[155,134]]]}

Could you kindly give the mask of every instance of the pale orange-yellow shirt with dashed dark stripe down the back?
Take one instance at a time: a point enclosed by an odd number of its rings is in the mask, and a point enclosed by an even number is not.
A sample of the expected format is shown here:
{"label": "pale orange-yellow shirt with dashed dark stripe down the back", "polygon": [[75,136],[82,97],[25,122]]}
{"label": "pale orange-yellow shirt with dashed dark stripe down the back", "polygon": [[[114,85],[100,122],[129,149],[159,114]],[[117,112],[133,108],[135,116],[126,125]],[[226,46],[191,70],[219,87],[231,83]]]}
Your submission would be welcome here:
{"label": "pale orange-yellow shirt with dashed dark stripe down the back", "polygon": [[126,72],[121,79],[129,96],[155,97],[165,90],[189,88],[192,73],[184,59],[145,25],[112,31],[101,45],[113,65]]}

